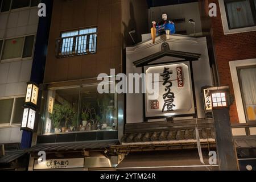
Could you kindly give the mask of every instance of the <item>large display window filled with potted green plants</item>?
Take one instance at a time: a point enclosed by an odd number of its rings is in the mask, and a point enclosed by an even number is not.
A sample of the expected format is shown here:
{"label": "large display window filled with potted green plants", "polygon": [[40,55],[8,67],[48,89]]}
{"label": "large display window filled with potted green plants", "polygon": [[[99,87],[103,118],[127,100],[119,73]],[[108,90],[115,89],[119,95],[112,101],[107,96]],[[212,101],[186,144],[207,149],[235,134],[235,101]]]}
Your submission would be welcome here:
{"label": "large display window filled with potted green plants", "polygon": [[99,94],[97,85],[48,90],[43,133],[116,130],[117,94]]}

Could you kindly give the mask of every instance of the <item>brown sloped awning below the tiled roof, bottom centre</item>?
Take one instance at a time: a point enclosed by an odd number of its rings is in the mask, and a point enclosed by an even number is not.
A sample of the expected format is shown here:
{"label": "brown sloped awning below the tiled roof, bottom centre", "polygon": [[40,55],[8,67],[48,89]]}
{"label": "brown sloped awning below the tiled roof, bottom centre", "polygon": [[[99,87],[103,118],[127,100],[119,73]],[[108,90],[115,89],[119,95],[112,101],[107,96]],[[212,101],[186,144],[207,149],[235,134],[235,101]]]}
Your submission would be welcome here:
{"label": "brown sloped awning below the tiled roof, bottom centre", "polygon": [[118,164],[118,170],[218,170],[217,165],[208,163],[208,150],[203,151],[204,164],[200,163],[197,150],[134,152]]}

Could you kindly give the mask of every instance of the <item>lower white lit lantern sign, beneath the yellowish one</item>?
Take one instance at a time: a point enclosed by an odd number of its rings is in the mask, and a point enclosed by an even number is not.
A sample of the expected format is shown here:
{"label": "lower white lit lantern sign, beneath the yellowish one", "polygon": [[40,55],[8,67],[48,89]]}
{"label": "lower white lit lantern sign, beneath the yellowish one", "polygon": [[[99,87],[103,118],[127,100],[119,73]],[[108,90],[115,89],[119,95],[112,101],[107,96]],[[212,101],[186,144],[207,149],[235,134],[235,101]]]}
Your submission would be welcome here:
{"label": "lower white lit lantern sign, beneath the yellowish one", "polygon": [[36,110],[25,107],[23,111],[22,125],[20,130],[34,131]]}

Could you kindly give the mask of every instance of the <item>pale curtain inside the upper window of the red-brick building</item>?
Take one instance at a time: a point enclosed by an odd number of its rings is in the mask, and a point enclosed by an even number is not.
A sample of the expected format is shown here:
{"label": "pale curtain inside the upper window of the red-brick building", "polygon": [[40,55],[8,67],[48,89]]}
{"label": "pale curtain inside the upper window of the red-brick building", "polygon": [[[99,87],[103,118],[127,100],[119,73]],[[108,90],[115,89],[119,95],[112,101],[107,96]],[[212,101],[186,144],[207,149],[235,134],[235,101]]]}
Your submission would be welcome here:
{"label": "pale curtain inside the upper window of the red-brick building", "polygon": [[250,1],[236,1],[226,3],[230,28],[253,26],[253,14]]}

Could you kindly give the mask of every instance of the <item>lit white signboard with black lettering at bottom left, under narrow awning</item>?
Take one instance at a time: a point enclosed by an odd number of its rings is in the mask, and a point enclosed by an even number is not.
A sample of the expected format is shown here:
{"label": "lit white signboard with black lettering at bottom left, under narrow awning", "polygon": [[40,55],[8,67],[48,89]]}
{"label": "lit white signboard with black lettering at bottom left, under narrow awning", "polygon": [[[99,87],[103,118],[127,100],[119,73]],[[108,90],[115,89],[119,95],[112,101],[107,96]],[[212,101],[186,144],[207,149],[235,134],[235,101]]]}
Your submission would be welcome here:
{"label": "lit white signboard with black lettering at bottom left, under narrow awning", "polygon": [[76,159],[48,159],[45,162],[34,162],[34,169],[64,169],[84,168],[84,158]]}

